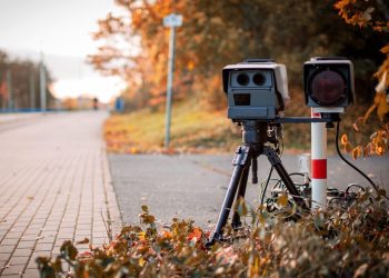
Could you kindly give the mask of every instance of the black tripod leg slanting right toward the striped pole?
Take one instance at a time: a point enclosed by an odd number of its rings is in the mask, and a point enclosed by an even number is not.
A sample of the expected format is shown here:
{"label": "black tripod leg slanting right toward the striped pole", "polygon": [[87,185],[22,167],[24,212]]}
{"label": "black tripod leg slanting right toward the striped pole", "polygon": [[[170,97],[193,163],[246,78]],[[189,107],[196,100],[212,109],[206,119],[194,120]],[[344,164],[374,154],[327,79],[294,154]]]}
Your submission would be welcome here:
{"label": "black tripod leg slanting right toward the striped pole", "polygon": [[283,168],[282,162],[280,158],[278,157],[277,152],[270,148],[270,147],[263,147],[263,153],[268,157],[270,163],[272,167],[275,167],[276,171],[278,172],[278,176],[280,176],[281,180],[283,181],[285,186],[287,187],[289,193],[293,197],[293,200],[296,203],[305,209],[308,210],[307,203],[303,201],[300,192],[297,190],[293,181],[289,177],[287,170]]}

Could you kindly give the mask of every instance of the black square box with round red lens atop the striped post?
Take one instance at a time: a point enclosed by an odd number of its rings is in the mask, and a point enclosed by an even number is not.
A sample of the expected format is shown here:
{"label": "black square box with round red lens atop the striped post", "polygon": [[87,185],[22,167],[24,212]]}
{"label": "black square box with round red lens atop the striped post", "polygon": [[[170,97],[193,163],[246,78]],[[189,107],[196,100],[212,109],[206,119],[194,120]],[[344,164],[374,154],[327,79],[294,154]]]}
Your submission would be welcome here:
{"label": "black square box with round red lens atop the striped post", "polygon": [[316,57],[303,63],[306,105],[345,108],[355,102],[353,66],[341,57]]}

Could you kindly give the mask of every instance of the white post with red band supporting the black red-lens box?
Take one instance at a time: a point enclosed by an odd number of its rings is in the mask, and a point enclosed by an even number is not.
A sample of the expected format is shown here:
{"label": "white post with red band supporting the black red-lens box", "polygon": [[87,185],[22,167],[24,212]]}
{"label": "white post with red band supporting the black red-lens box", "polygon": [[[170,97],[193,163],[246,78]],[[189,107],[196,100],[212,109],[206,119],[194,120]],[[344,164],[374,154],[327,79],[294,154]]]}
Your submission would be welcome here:
{"label": "white post with red band supporting the black red-lens box", "polygon": [[[315,108],[311,118],[320,118]],[[325,122],[311,123],[311,208],[325,208],[327,205],[327,128]]]}

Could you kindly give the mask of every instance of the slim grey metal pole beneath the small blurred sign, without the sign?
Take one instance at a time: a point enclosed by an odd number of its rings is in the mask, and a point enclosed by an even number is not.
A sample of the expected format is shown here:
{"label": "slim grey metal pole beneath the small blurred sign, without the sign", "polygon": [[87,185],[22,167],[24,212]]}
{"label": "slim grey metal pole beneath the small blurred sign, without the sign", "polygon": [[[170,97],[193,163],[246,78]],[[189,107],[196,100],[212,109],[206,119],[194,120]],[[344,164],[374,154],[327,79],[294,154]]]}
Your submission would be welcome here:
{"label": "slim grey metal pole beneath the small blurred sign, without the sign", "polygon": [[169,42],[169,61],[168,61],[168,83],[167,83],[167,102],[166,102],[166,133],[164,133],[164,148],[169,148],[170,142],[170,121],[171,121],[171,98],[172,98],[172,83],[174,71],[174,37],[176,28],[170,28],[170,42]]}

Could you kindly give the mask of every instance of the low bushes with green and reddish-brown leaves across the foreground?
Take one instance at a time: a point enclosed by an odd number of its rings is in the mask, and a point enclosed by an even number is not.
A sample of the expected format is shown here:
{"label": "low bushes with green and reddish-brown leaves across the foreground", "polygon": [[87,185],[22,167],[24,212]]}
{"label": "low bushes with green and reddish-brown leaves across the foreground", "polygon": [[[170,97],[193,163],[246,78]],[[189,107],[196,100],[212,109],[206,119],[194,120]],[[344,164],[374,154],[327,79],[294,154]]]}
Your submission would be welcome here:
{"label": "low bushes with green and reddish-brown leaves across the foreground", "polygon": [[[286,205],[282,200],[280,206]],[[57,258],[39,258],[42,277],[387,277],[389,272],[388,205],[361,192],[347,209],[317,210],[288,221],[250,209],[250,227],[226,227],[226,241],[205,248],[209,232],[191,220],[172,219],[159,229],[142,207],[142,226],[124,227],[109,245],[77,254],[64,242]]]}

